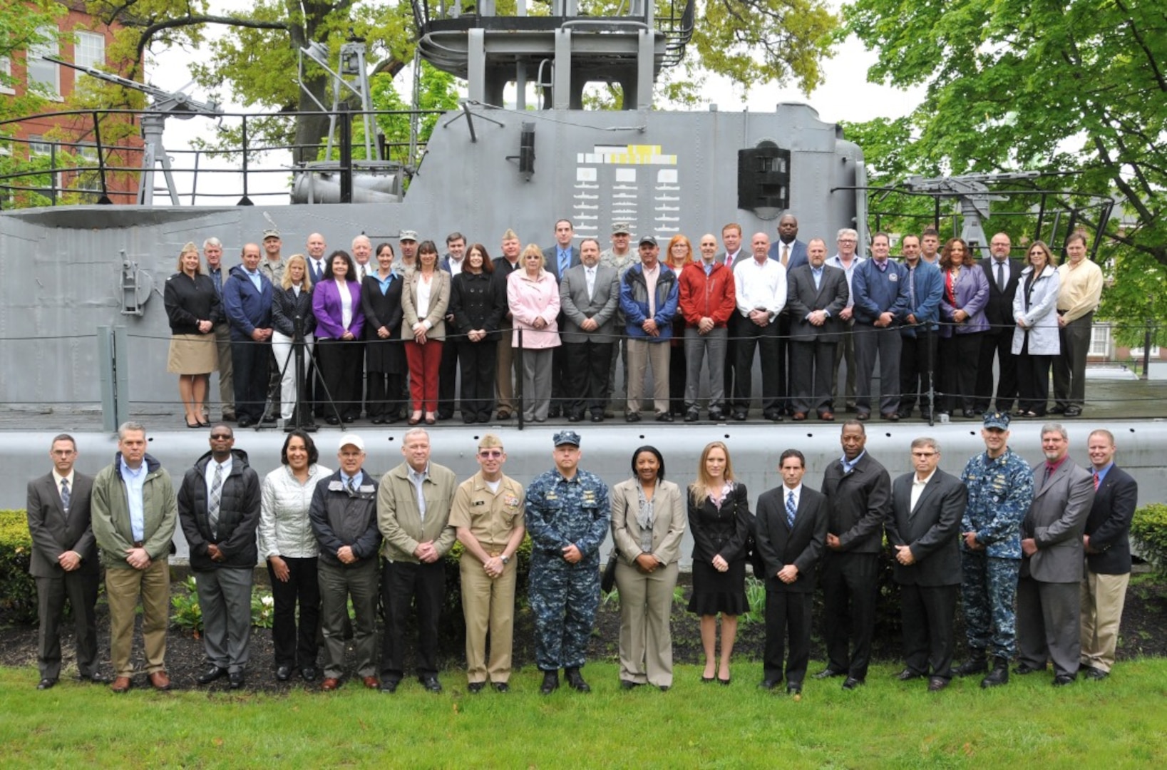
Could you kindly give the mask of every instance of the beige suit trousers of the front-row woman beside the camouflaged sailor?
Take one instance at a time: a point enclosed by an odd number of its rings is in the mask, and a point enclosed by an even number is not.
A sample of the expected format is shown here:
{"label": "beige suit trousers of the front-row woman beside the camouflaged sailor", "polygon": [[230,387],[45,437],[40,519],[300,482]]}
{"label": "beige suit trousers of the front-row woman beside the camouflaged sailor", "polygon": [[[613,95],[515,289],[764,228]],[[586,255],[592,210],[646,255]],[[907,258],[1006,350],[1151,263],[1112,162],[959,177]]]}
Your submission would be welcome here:
{"label": "beige suit trousers of the front-row woman beside the camouflaged sailor", "polygon": [[623,559],[616,564],[621,680],[647,681],[657,687],[672,686],[669,615],[676,586],[676,561],[647,575]]}

